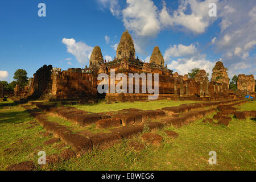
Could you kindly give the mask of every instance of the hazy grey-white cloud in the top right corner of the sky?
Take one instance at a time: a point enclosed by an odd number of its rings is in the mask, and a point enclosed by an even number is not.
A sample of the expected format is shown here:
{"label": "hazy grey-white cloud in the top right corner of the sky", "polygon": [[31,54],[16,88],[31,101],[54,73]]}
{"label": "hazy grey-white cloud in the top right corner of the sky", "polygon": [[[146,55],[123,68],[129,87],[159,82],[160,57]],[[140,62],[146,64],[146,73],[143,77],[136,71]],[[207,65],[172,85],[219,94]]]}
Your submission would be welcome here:
{"label": "hazy grey-white cloud in the top right corner of the sky", "polygon": [[222,21],[221,34],[215,43],[217,52],[224,53],[224,60],[230,65],[240,63],[241,59],[253,59],[250,51],[256,45],[255,1],[248,0],[245,6],[243,1],[234,0],[231,7],[224,0],[218,7]]}

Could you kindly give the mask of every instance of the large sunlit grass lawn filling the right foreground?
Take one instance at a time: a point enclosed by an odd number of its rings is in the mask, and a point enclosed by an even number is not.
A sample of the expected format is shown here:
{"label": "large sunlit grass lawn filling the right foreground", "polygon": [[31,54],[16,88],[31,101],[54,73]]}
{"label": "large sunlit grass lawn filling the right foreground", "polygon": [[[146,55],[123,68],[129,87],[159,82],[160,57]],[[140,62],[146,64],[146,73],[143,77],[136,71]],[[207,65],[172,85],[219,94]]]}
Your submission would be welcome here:
{"label": "large sunlit grass lawn filling the right foreground", "polygon": [[[209,115],[209,117],[213,117]],[[203,123],[203,119],[174,129],[164,127],[153,132],[160,134],[164,142],[160,147],[147,146],[141,152],[127,147],[124,140],[105,151],[95,150],[79,159],[55,166],[68,170],[255,170],[256,123],[253,120],[232,119],[230,125],[219,126]],[[170,139],[163,132],[179,133]],[[141,141],[140,135],[134,140]],[[210,165],[209,151],[216,151],[217,165]]]}

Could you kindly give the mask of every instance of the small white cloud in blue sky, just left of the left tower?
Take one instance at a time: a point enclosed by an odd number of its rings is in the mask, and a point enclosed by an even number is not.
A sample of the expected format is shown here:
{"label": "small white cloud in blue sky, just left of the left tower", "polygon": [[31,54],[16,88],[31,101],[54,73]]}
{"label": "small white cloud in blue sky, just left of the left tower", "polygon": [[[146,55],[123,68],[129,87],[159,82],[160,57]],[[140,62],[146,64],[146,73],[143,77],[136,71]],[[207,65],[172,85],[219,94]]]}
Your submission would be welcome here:
{"label": "small white cloud in blue sky, just left of the left tower", "polygon": [[83,42],[76,42],[75,39],[63,38],[62,43],[67,46],[67,51],[72,53],[81,64],[88,63],[89,56],[92,54],[93,47]]}

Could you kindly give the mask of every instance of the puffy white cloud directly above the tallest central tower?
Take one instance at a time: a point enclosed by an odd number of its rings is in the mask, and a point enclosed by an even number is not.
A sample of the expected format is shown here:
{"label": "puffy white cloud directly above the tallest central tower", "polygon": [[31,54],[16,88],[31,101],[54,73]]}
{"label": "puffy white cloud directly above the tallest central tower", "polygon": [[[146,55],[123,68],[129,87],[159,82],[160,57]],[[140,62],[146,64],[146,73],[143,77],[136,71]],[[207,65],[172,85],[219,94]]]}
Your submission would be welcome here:
{"label": "puffy white cloud directly above the tallest central tower", "polygon": [[158,8],[151,0],[127,0],[122,10],[123,24],[139,36],[156,36],[160,31]]}

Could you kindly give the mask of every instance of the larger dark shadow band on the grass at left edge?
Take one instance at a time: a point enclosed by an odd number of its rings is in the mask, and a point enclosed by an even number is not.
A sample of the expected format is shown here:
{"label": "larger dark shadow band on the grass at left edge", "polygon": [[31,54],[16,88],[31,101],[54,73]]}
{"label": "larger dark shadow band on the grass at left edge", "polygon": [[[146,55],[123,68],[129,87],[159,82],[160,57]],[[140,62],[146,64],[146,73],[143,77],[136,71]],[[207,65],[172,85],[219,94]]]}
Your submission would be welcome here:
{"label": "larger dark shadow band on the grass at left edge", "polygon": [[0,113],[0,125],[2,123],[23,123],[31,120],[27,111],[11,111]]}

